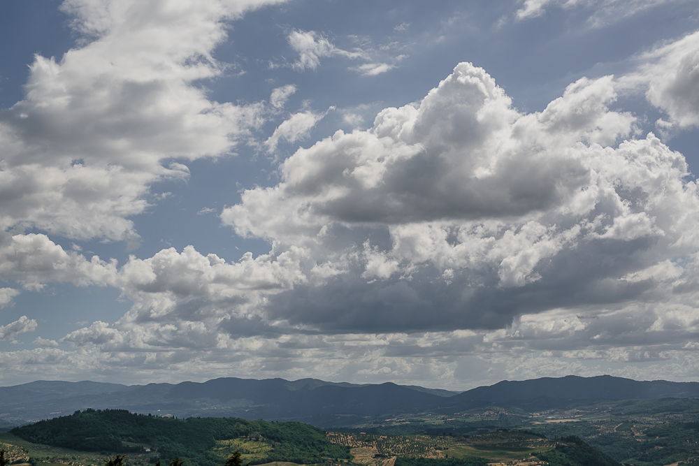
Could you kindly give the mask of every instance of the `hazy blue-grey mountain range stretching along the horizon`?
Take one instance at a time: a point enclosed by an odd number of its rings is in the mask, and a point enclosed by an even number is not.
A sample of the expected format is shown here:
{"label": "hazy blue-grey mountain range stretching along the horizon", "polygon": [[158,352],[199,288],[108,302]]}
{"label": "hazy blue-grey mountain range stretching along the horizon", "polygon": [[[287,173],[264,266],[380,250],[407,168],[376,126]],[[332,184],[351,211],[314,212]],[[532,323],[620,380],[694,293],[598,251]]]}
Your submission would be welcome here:
{"label": "hazy blue-grey mountain range stretching along the horizon", "polygon": [[233,416],[301,421],[321,427],[362,418],[438,410],[440,413],[540,397],[561,400],[699,398],[699,382],[635,381],[608,375],[501,381],[464,392],[420,386],[348,384],[317,379],[238,379],[127,386],[94,381],[34,381],[0,387],[0,425],[10,427],[77,410],[129,409],[176,417]]}

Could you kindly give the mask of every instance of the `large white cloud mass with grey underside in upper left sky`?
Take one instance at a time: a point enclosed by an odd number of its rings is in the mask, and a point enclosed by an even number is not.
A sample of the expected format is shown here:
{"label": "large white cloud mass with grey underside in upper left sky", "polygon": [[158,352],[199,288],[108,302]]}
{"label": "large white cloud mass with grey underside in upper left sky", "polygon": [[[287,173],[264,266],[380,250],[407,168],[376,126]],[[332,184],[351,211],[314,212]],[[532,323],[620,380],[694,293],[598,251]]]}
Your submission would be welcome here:
{"label": "large white cloud mass with grey underside in upper left sky", "polygon": [[0,229],[138,242],[129,217],[183,163],[229,153],[261,105],[210,101],[193,85],[224,69],[226,21],[270,1],[69,0],[82,46],[37,55],[25,98],[0,112]]}

